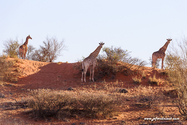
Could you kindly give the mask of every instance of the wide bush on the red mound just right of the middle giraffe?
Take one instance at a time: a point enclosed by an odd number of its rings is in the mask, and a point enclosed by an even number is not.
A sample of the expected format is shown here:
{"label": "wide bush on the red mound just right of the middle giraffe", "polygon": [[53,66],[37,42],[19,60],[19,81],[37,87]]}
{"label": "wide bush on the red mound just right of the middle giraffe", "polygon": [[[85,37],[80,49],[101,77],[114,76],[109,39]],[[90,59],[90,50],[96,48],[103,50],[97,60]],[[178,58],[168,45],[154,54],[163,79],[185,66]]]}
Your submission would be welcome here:
{"label": "wide bush on the red mound just right of the middle giraffe", "polygon": [[[118,48],[103,48],[104,55],[99,55],[97,58],[99,76],[112,75],[115,76],[118,72],[124,75],[137,75],[137,70],[146,65],[145,61],[138,58],[132,58],[127,50]],[[136,65],[135,69],[131,68]]]}

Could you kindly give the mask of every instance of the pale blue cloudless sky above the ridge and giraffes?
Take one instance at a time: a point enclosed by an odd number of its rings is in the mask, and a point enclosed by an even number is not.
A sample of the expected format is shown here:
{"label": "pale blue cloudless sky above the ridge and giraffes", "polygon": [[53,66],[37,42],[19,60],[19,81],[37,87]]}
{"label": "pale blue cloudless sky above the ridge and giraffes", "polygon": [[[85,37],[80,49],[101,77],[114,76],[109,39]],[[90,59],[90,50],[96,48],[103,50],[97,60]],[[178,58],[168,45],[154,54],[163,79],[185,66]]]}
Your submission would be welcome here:
{"label": "pale blue cloudless sky above the ridge and giraffes", "polygon": [[[150,62],[167,38],[187,34],[186,0],[0,0],[0,54],[9,40],[39,49],[46,38],[64,41],[55,62],[77,62],[99,42]],[[100,54],[103,52],[101,51]]]}

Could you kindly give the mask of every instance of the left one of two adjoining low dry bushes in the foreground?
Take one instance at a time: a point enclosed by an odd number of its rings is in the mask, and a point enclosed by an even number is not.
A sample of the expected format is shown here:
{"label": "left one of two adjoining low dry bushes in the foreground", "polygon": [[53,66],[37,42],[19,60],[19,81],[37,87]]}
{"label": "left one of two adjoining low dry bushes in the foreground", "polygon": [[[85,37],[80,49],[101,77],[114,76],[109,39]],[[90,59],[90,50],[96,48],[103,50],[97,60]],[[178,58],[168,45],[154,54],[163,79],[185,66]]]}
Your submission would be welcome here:
{"label": "left one of two adjoining low dry bushes in the foreground", "polygon": [[36,117],[56,116],[65,107],[75,103],[69,93],[59,93],[50,89],[31,91],[32,98],[27,100]]}

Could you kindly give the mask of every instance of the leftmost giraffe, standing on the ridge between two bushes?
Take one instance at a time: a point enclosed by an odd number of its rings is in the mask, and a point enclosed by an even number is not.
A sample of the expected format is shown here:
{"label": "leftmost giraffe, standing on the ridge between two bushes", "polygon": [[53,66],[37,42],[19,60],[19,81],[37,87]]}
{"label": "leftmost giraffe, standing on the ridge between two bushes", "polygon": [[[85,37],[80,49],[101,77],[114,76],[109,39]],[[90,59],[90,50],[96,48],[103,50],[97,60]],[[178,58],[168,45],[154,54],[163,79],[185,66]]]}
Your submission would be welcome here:
{"label": "leftmost giraffe, standing on the ridge between two bushes", "polygon": [[19,55],[21,56],[22,59],[25,59],[25,55],[28,49],[27,45],[28,45],[29,39],[32,39],[30,35],[26,37],[24,44],[19,47]]}

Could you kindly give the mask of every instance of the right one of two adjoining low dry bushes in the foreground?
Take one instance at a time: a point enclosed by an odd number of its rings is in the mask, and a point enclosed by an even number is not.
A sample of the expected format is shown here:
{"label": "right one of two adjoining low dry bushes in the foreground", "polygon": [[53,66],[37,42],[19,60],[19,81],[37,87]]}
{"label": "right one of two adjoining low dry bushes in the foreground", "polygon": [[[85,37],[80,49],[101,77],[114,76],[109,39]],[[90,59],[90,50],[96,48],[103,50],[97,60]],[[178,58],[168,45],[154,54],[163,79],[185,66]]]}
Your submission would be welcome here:
{"label": "right one of two adjoining low dry bushes in the foreground", "polygon": [[120,105],[116,97],[103,93],[81,93],[79,103],[87,113],[86,115],[92,118],[98,115],[106,116],[115,111],[117,106]]}

